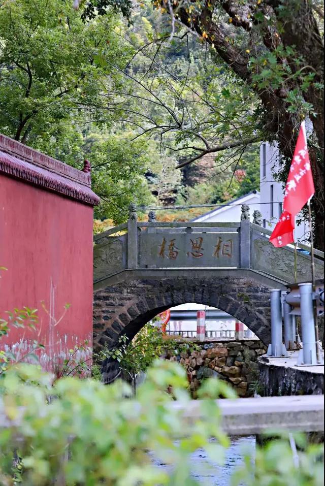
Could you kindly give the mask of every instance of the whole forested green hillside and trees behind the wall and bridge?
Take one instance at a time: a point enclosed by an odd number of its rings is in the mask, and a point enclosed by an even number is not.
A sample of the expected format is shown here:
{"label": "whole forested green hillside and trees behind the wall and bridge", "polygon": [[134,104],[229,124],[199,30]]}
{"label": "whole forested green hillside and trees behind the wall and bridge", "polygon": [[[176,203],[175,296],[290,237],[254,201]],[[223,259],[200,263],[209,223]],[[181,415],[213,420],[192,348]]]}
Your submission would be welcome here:
{"label": "whole forested green hillside and trees behind the wall and bridge", "polygon": [[151,3],[134,7],[130,25],[113,9],[81,15],[69,1],[3,4],[2,133],[75,167],[89,159],[102,199],[95,217],[116,223],[131,201],[198,205],[258,188],[258,143],[177,169],[205,137],[254,140],[258,103],[201,39],[180,29],[169,40]]}

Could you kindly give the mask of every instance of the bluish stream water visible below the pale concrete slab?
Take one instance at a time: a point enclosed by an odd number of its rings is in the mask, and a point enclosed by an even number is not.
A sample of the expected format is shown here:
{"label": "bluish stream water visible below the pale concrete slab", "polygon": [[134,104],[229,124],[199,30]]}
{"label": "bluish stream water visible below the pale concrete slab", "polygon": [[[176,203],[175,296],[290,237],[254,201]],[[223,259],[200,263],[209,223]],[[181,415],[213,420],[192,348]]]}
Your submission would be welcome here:
{"label": "bluish stream water visible below the pale concrete slab", "polygon": [[[213,464],[203,449],[196,450],[191,456],[191,475],[203,486],[230,486],[231,476],[234,471],[243,463],[243,451],[249,450],[252,460],[255,456],[255,436],[230,437],[230,446],[225,451],[225,462],[223,466]],[[164,471],[171,472],[172,466],[161,464],[159,460],[152,457],[152,462]],[[183,485],[179,485],[183,486]],[[249,485],[247,485],[249,486]]]}

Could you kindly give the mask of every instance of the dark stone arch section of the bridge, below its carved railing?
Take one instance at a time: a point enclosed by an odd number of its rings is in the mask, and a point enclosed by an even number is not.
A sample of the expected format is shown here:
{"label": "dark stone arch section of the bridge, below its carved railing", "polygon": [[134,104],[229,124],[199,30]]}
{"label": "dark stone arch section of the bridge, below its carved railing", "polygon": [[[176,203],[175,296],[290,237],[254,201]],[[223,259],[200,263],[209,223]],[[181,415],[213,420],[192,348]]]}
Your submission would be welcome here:
{"label": "dark stone arch section of the bridge, below its carved railing", "polygon": [[[184,272],[182,272],[184,273]],[[195,302],[236,317],[265,344],[270,342],[270,286],[253,278],[177,276],[123,280],[94,294],[94,348],[133,339],[158,313]],[[208,272],[207,272],[208,273]]]}

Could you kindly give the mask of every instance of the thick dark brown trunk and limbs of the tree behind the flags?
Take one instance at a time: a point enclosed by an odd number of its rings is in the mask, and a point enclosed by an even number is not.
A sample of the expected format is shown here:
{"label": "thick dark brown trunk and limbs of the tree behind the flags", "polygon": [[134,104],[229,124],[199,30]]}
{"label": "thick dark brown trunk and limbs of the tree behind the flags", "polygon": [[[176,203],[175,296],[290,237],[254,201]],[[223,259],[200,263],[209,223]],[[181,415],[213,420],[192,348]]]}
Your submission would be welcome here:
{"label": "thick dark brown trunk and limbs of the tree behind the flags", "polygon": [[[275,20],[274,31],[269,28],[267,35],[265,35],[266,32],[261,27],[257,42],[264,44],[264,49],[269,51],[274,50],[276,46],[282,43],[284,49],[290,47],[294,52],[290,54],[291,57],[284,60],[289,64],[293,75],[288,75],[288,78],[283,82],[282,89],[277,90],[273,89],[272,86],[261,89],[252,83],[251,72],[248,67],[249,56],[247,52],[250,52],[249,49],[245,50],[243,45],[238,48],[236,43],[230,42],[222,20],[215,20],[215,17],[213,17],[214,8],[222,8],[230,15],[230,20],[235,27],[250,32],[252,25],[258,26],[258,21],[256,23],[254,20],[255,7],[252,7],[252,5],[231,2],[230,0],[223,0],[223,2],[211,0],[210,3],[207,1],[201,12],[194,17],[189,16],[186,8],[180,7],[178,3],[176,3],[176,8],[180,21],[189,29],[203,36],[205,41],[214,47],[219,58],[228,64],[230,69],[245,81],[261,99],[266,112],[266,131],[270,134],[270,139],[278,141],[282,163],[287,171],[295,150],[301,118],[299,118],[300,113],[288,112],[288,104],[285,101],[286,93],[290,90],[297,90],[297,92],[302,93],[304,100],[313,106],[309,116],[319,147],[318,153],[315,152],[314,147],[310,147],[311,167],[315,183],[315,197],[312,201],[314,243],[316,248],[324,250],[324,111],[323,88],[321,87],[324,78],[324,49],[317,22],[313,16],[312,4],[309,0],[286,0],[286,2],[283,2],[283,0],[265,0],[266,8],[271,10],[271,16]],[[263,10],[264,8],[262,6],[260,12],[268,13]],[[275,28],[280,35],[276,33]],[[247,47],[249,46],[247,45]],[[299,59],[300,61],[297,63],[296,61]],[[219,60],[216,62],[219,62]],[[282,62],[282,60],[280,59],[279,62]],[[302,70],[301,76],[307,74],[313,76],[309,87],[304,90],[301,89],[302,78],[295,79],[294,77],[299,70]],[[281,91],[285,94],[283,95]]]}

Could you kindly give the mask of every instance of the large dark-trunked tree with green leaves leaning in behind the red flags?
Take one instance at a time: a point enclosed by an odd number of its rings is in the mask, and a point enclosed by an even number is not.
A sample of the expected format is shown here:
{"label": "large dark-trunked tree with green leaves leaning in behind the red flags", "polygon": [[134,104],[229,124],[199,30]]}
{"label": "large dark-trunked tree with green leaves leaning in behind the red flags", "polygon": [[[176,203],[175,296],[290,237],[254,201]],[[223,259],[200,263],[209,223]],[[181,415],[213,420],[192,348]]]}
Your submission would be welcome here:
{"label": "large dark-trunked tree with green leaves leaning in behind the red flags", "polygon": [[[316,244],[324,247],[323,7],[312,0],[156,2],[198,34],[261,103],[265,138],[276,140],[285,181],[300,121],[313,125],[309,153],[316,193]],[[233,94],[233,93],[232,93]],[[232,100],[232,96],[231,96]],[[293,136],[294,134],[294,136]],[[219,147],[214,147],[214,149]],[[213,149],[213,146],[208,149]]]}

